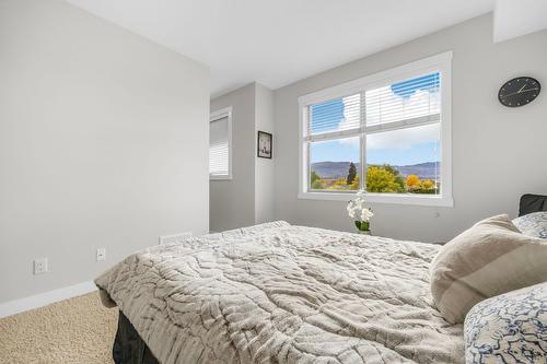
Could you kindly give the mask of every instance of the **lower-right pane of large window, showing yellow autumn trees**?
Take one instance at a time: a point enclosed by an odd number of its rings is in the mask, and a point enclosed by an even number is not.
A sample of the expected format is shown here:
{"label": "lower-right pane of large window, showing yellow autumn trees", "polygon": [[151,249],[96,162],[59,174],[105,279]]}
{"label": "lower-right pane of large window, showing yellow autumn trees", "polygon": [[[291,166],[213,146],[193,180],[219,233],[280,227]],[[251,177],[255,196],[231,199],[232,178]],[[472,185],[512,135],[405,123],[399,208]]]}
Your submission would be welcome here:
{"label": "lower-right pane of large window, showing yellow autumn trees", "polygon": [[440,124],[366,136],[366,191],[441,191]]}

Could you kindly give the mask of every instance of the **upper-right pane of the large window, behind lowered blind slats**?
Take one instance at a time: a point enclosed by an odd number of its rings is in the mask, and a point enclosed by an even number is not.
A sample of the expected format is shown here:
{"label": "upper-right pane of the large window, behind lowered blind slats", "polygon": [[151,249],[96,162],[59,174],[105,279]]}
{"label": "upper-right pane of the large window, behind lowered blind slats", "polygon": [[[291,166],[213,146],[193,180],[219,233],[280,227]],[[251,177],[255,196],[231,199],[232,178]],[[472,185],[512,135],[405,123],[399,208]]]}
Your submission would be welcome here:
{"label": "upper-right pane of the large window, behind lowered blind slats", "polygon": [[440,114],[440,73],[437,72],[366,91],[366,125]]}

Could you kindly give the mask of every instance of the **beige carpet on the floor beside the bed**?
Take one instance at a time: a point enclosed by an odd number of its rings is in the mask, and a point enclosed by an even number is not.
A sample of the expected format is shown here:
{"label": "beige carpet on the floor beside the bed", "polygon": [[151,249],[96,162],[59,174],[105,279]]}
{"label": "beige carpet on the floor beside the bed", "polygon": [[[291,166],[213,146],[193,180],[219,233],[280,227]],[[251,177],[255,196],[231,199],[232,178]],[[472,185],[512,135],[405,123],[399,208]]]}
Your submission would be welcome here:
{"label": "beige carpet on the floor beside the bed", "polygon": [[113,363],[118,313],[98,293],[0,319],[0,363]]}

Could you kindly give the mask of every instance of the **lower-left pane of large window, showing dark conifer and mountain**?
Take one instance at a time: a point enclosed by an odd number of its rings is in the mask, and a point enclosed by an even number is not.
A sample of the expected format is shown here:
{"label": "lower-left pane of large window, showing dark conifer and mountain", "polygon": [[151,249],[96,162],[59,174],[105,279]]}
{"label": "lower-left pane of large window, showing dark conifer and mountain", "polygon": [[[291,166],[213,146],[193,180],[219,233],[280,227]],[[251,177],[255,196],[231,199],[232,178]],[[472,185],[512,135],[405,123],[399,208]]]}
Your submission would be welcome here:
{"label": "lower-left pane of large window, showing dark conifer and mountain", "polygon": [[359,137],[311,142],[309,145],[311,190],[359,189]]}

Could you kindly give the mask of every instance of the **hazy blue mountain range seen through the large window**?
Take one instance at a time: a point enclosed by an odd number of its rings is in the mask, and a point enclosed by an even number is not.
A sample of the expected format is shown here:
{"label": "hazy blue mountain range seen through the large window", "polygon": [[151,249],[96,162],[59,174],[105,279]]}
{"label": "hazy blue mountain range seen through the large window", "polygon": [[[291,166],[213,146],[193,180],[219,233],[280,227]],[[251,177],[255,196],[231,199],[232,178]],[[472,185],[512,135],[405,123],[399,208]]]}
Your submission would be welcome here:
{"label": "hazy blue mountain range seen through the large window", "polygon": [[[340,178],[348,176],[350,162],[317,162],[312,164],[312,169],[322,178]],[[359,163],[356,163],[359,171]],[[401,176],[417,175],[421,179],[435,179],[441,175],[440,162],[426,162],[412,165],[394,166]]]}

